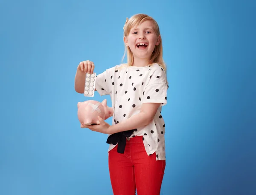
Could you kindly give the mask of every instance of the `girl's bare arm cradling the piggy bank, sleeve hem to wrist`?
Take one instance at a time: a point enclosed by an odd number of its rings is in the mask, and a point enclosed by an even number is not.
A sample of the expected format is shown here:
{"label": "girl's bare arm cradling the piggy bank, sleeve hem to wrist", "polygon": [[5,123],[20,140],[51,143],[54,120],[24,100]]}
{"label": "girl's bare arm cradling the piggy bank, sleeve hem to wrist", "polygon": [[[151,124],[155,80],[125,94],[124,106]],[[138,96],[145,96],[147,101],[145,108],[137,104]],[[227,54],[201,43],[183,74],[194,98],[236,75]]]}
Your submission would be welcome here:
{"label": "girl's bare arm cradling the piggy bank, sleeve hem to wrist", "polygon": [[108,133],[113,134],[148,125],[154,119],[159,106],[160,103],[143,103],[139,114],[133,115],[127,120],[110,126]]}

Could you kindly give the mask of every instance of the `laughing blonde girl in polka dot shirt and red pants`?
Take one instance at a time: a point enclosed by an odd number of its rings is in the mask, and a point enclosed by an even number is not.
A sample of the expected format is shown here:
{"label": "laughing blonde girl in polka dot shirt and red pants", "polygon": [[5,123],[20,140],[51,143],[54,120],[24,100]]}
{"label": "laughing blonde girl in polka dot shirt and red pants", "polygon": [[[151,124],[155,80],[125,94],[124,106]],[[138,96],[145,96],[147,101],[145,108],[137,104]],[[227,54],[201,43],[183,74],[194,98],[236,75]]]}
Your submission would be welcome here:
{"label": "laughing blonde girl in polka dot shirt and red pants", "polygon": [[[165,124],[161,108],[167,103],[166,66],[157,22],[136,14],[124,26],[128,63],[96,77],[96,91],[110,95],[112,125],[99,118],[82,126],[109,134],[109,172],[114,195],[159,195],[166,166]],[[85,73],[93,73],[89,60],[79,63],[76,92],[84,92]]]}

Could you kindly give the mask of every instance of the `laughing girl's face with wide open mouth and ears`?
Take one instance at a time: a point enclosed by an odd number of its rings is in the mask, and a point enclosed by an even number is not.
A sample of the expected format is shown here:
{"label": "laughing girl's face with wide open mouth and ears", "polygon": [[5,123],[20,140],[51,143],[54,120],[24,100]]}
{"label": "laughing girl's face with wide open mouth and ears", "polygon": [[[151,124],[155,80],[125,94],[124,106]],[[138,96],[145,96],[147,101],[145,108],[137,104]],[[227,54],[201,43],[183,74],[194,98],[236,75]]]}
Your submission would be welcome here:
{"label": "laughing girl's face with wide open mouth and ears", "polygon": [[131,49],[134,58],[150,60],[154,47],[160,43],[160,35],[154,32],[154,23],[146,20],[137,27],[131,28],[127,37],[124,37],[125,45]]}

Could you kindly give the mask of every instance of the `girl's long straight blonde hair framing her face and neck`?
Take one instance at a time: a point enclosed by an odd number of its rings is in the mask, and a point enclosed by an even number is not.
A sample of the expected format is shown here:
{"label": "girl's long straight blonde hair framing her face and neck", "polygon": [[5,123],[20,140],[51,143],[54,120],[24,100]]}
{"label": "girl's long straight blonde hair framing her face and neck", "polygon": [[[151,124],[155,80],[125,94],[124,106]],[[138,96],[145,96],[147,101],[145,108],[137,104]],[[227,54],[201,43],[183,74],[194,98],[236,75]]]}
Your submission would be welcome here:
{"label": "girl's long straight blonde hair framing her face and neck", "polygon": [[[127,23],[125,23],[124,36],[127,37],[128,34],[131,31],[131,28],[133,28],[134,26],[139,26],[145,20],[151,20],[154,23],[154,29],[153,30],[154,30],[156,36],[158,37],[160,35],[160,29],[159,29],[159,26],[158,26],[157,22],[152,17],[150,17],[146,14],[135,14],[135,15],[133,15],[127,21]],[[127,65],[132,66],[132,64],[134,63],[134,57],[133,57],[133,54],[131,52],[131,49],[128,46],[125,45],[125,53],[126,53],[126,51],[127,51]],[[125,53],[122,57],[122,61],[125,58]],[[151,55],[150,62],[159,64],[159,66],[161,66],[164,69],[165,72],[167,71],[166,64],[164,63],[164,60],[163,60],[162,39],[160,40],[159,45],[155,46],[154,51]]]}

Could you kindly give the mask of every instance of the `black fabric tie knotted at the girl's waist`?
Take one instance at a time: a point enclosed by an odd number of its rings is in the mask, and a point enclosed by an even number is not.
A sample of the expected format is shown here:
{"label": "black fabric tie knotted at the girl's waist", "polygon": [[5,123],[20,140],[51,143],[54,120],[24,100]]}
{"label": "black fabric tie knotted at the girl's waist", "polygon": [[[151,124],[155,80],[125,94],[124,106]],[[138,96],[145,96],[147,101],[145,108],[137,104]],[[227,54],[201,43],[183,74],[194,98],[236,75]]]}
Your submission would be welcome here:
{"label": "black fabric tie knotted at the girl's waist", "polygon": [[128,130],[124,132],[113,133],[108,136],[107,143],[117,145],[117,152],[123,154],[125,152],[126,138],[129,138],[133,134],[134,130]]}

